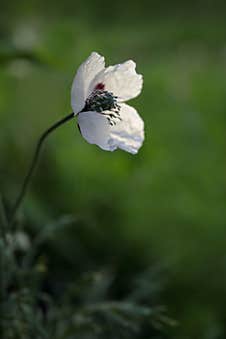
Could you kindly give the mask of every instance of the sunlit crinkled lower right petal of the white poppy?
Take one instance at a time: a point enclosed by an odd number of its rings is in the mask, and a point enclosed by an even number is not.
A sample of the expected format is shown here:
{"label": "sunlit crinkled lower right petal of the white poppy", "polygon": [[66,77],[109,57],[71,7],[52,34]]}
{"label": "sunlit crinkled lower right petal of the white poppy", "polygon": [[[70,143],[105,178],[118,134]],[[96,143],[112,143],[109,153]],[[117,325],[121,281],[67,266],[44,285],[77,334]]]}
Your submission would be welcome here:
{"label": "sunlit crinkled lower right petal of the white poppy", "polygon": [[121,121],[111,128],[111,147],[136,154],[144,141],[144,122],[135,108],[121,104]]}

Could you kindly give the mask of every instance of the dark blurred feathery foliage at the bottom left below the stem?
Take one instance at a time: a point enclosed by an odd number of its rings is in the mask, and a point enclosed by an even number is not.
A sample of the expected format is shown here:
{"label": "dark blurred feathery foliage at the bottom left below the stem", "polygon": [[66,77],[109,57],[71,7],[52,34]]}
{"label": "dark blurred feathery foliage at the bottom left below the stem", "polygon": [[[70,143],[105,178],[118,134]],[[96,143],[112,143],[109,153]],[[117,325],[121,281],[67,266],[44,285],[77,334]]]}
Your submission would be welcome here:
{"label": "dark blurred feathery foliage at the bottom left below the stem", "polygon": [[[60,229],[65,231],[68,225],[72,225],[73,218],[64,217],[45,225],[44,230],[31,239],[22,229],[9,231],[3,204],[1,212],[2,338],[167,337],[166,328],[174,326],[175,322],[167,316],[164,307],[156,305],[157,291],[152,291],[148,283],[150,272],[142,274],[136,283],[130,279],[127,283],[134,287],[125,289],[117,299],[114,285],[119,287],[116,281],[120,282],[121,274],[107,267],[77,272],[75,278],[75,269],[69,274],[71,268],[63,268],[65,272],[55,278],[44,245],[54,240]],[[62,266],[57,267],[58,274],[59,269]],[[152,306],[148,302],[151,291],[155,298]]]}

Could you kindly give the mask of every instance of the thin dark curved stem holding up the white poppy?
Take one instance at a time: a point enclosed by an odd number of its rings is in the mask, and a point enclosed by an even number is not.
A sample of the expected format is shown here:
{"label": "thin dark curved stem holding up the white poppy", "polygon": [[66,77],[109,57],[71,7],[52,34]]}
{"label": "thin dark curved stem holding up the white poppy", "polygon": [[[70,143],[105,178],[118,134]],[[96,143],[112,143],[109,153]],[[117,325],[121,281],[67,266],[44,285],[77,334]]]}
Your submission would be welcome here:
{"label": "thin dark curved stem holding up the white poppy", "polygon": [[64,117],[63,119],[57,121],[55,124],[53,124],[50,128],[48,128],[39,138],[38,140],[38,143],[37,143],[37,146],[36,146],[36,149],[35,149],[35,153],[34,153],[34,156],[33,156],[33,159],[32,159],[32,162],[31,162],[31,165],[28,169],[28,172],[25,176],[25,179],[24,179],[24,182],[23,182],[23,185],[22,185],[22,188],[21,188],[21,191],[18,195],[18,198],[15,202],[15,205],[13,207],[13,210],[12,210],[12,214],[11,214],[11,217],[10,217],[10,223],[12,224],[13,221],[14,221],[14,218],[16,216],[16,213],[25,197],[25,194],[27,192],[27,188],[28,188],[28,185],[30,183],[30,180],[32,178],[32,175],[33,175],[33,172],[34,172],[34,169],[36,167],[36,164],[37,164],[37,161],[38,161],[38,158],[39,158],[39,154],[40,154],[40,151],[41,151],[41,148],[42,148],[42,145],[45,141],[45,139],[48,137],[48,135],[50,133],[52,133],[55,129],[57,129],[58,127],[60,127],[61,125],[63,125],[65,122],[71,120],[74,118],[74,113],[70,113],[69,115],[67,115],[66,117]]}

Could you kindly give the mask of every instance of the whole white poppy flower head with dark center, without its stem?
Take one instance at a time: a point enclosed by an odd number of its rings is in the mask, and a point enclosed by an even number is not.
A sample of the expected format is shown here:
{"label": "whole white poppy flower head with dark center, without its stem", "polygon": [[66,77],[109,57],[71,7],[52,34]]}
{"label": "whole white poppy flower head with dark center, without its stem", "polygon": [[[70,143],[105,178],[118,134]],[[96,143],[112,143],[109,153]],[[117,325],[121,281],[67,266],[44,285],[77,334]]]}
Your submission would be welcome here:
{"label": "whole white poppy flower head with dark center, without its stem", "polygon": [[142,89],[143,78],[135,68],[132,60],[105,68],[104,57],[95,52],[79,67],[71,105],[78,115],[80,132],[89,143],[132,154],[142,146],[144,122],[135,108],[124,103]]}

